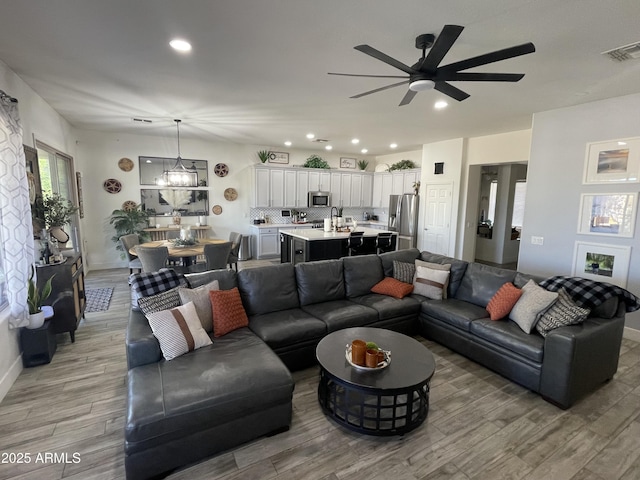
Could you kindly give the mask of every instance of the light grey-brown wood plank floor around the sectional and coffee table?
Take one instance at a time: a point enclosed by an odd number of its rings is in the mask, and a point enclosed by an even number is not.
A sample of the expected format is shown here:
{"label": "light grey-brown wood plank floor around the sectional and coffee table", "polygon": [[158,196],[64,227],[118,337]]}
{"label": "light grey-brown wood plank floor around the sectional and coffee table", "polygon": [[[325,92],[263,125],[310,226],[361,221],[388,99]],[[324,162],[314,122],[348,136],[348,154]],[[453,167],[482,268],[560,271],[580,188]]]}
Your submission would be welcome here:
{"label": "light grey-brown wood plank floor around the sectional and coffee table", "polygon": [[[0,403],[0,454],[31,455],[28,464],[0,463],[1,479],[124,478],[127,274],[121,269],[88,275],[88,288],[114,287],[109,310],[86,314],[76,343],[59,336],[53,361],[25,369]],[[434,353],[437,369],[428,418],[414,432],[375,438],[336,426],[318,405],[318,370],[313,367],[294,373],[288,432],[168,478],[640,478],[640,344],[623,340],[615,378],[563,411],[436,343],[420,340]],[[66,453],[67,462],[36,462],[38,454],[47,452]],[[74,453],[79,454],[77,463]]]}

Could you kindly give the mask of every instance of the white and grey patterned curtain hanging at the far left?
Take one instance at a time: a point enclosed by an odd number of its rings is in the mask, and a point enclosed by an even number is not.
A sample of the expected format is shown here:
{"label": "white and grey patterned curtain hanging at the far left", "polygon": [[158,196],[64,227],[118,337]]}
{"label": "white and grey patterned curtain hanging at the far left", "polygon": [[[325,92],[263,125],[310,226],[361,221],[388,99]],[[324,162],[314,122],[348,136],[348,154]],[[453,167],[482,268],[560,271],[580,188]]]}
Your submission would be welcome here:
{"label": "white and grey patterned curtain hanging at the far left", "polygon": [[18,104],[5,99],[0,99],[0,217],[9,328],[24,327],[29,323],[27,279],[34,261],[33,225]]}

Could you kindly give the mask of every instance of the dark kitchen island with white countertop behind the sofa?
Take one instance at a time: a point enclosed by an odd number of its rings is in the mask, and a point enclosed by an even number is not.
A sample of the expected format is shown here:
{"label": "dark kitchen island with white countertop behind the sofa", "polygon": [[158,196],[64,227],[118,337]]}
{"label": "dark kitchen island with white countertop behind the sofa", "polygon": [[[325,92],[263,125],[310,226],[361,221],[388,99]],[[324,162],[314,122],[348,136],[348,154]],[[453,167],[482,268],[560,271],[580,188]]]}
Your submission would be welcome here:
{"label": "dark kitchen island with white countertop behind the sofa", "polygon": [[[384,230],[358,227],[363,232],[362,254],[376,253],[376,237]],[[392,232],[390,232],[392,233]],[[329,260],[349,255],[348,239],[351,232],[325,232],[322,229],[281,229],[280,261],[282,263]],[[392,249],[396,248],[397,235],[393,232]]]}

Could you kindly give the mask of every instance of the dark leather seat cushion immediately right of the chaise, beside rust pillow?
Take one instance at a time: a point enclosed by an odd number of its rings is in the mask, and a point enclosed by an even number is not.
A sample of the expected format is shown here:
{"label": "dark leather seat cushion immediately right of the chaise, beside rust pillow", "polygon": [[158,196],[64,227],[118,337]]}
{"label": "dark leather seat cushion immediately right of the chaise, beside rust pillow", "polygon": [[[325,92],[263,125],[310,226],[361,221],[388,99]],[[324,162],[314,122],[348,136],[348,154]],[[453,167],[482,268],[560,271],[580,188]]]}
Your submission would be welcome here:
{"label": "dark leather seat cushion immediately right of the chaise, beside rust pillow", "polygon": [[320,341],[327,334],[322,320],[300,308],[254,315],[249,317],[249,328],[273,349]]}

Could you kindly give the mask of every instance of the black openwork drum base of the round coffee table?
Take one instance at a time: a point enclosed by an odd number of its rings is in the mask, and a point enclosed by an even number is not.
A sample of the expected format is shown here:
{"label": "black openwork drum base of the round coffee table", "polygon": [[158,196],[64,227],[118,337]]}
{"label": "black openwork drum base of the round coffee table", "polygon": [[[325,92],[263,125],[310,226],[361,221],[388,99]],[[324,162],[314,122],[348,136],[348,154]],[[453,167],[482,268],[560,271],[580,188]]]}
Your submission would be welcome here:
{"label": "black openwork drum base of the round coffee table", "polygon": [[344,427],[367,435],[404,435],[429,412],[429,380],[396,390],[358,387],[320,369],[318,400],[323,411]]}

